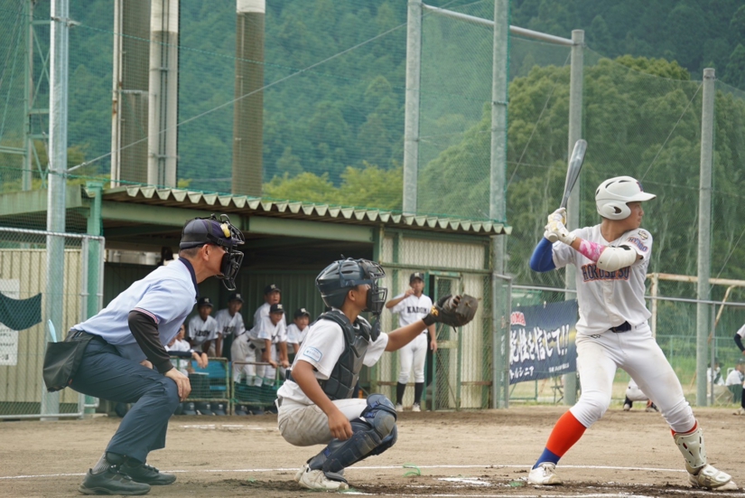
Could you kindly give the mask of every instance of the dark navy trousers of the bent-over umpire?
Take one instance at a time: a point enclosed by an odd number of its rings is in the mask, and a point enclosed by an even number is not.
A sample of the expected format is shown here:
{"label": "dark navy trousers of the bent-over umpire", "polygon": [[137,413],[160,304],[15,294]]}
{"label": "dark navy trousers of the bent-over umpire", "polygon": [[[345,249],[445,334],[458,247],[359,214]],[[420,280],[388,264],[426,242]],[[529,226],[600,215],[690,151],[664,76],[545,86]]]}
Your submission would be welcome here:
{"label": "dark navy trousers of the bent-over umpire", "polygon": [[107,451],[144,462],[148,453],[165,446],[168,419],[180,403],[176,383],[168,377],[122,358],[97,336],[88,343],[70,387],[88,396],[134,403]]}

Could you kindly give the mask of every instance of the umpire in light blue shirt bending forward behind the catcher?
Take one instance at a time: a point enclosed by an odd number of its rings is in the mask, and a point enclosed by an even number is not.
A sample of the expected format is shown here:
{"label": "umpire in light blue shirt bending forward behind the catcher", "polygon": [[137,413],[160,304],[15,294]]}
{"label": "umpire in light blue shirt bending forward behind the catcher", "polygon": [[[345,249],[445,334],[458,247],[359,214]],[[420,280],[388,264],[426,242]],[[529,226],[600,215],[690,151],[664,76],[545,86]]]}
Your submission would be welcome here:
{"label": "umpire in light blue shirt bending forward behind the catcher", "polygon": [[197,284],[218,277],[235,289],[242,243],[243,235],[226,215],[187,221],[178,260],[156,268],[70,330],[67,341],[88,341],[70,387],[134,403],[83,479],[80,493],[145,494],[151,485],[176,480],[145,464],[150,451],[165,446],[168,419],[191,391],[189,378],[173,368],[163,345],[191,312],[199,297]]}

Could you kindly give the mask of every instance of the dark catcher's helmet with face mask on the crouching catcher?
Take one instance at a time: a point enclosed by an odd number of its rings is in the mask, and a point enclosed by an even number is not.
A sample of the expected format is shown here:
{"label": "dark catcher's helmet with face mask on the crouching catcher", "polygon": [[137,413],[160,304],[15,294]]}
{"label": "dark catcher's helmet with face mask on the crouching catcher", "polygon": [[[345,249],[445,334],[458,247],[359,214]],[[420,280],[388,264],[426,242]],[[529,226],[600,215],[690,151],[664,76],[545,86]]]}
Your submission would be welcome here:
{"label": "dark catcher's helmet with face mask on the crouching catcher", "polygon": [[377,279],[385,276],[383,268],[368,259],[340,259],[321,271],[315,279],[315,287],[327,306],[340,308],[351,289],[368,284],[368,302],[363,311],[380,314],[386,304],[388,289],[377,287]]}

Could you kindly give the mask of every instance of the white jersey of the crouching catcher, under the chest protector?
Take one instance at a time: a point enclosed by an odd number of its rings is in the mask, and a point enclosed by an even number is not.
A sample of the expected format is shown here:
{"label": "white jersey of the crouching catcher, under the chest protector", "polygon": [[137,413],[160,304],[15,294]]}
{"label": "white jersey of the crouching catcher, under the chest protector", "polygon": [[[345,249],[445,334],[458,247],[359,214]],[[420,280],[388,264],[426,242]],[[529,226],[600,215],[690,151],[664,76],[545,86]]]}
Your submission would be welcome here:
{"label": "white jersey of the crouching catcher, under the chest protector", "polygon": [[[334,365],[339,362],[341,353],[344,352],[344,332],[340,324],[331,322],[331,320],[318,320],[310,326],[310,329],[303,345],[300,346],[300,351],[295,356],[293,365],[297,362],[311,363],[315,378],[319,381],[326,381],[331,376]],[[377,341],[368,345],[368,351],[362,363],[368,367],[376,364],[386,351],[387,344],[388,334],[380,333]],[[277,396],[302,405],[313,404],[294,381],[284,381],[277,391]]]}

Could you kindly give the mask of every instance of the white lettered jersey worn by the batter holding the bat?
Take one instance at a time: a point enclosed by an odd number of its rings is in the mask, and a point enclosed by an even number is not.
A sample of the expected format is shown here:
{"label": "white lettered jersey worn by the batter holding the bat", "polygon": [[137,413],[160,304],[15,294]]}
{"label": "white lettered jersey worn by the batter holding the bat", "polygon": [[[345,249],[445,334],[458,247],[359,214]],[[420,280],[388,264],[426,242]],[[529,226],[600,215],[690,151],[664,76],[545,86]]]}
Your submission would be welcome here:
{"label": "white lettered jersey worn by the batter holding the bat", "polygon": [[567,265],[577,268],[577,301],[580,307],[577,334],[601,334],[624,322],[629,322],[633,327],[646,324],[652,315],[644,300],[644,284],[652,254],[652,235],[643,229],[629,230],[618,240],[609,242],[602,237],[601,225],[573,230],[572,233],[583,240],[604,246],[627,246],[642,257],[628,268],[604,271],[597,267],[595,261],[586,258],[579,251],[563,242],[554,242],[556,268]]}

